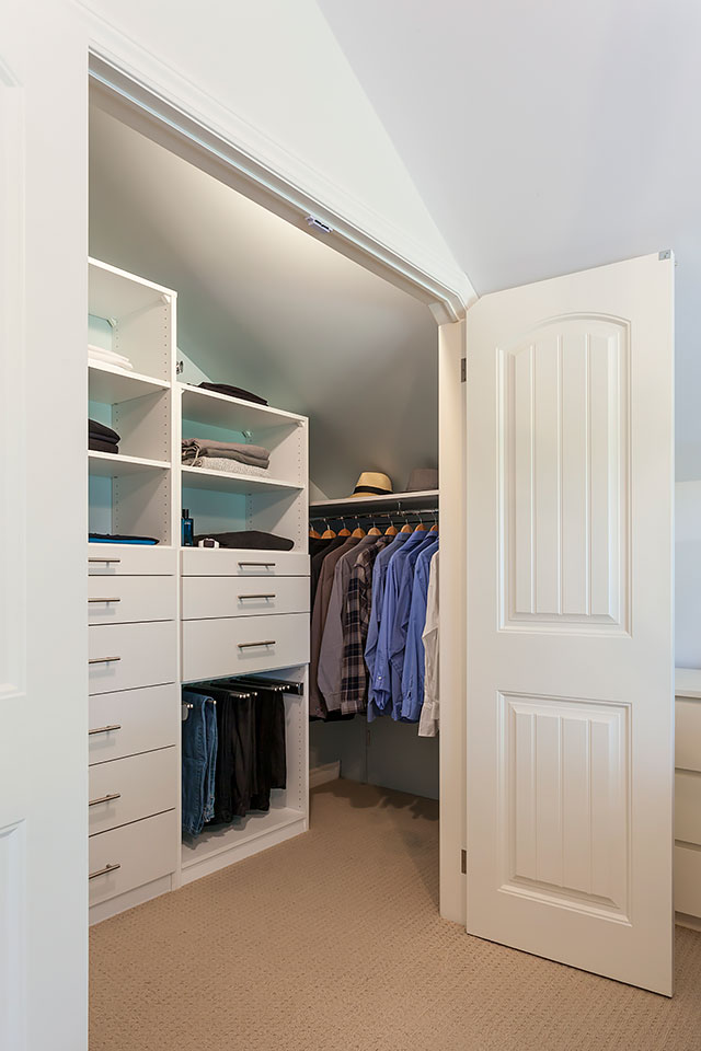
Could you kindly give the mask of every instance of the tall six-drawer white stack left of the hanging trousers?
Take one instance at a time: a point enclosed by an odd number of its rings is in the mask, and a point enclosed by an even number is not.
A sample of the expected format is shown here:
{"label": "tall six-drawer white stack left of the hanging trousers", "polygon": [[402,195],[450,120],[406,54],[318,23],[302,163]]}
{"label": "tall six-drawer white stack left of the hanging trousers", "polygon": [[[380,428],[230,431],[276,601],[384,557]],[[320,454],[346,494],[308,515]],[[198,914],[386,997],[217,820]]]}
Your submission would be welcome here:
{"label": "tall six-drawer white stack left of the hanging trousers", "polygon": [[91,906],[177,865],[176,558],[89,546]]}

